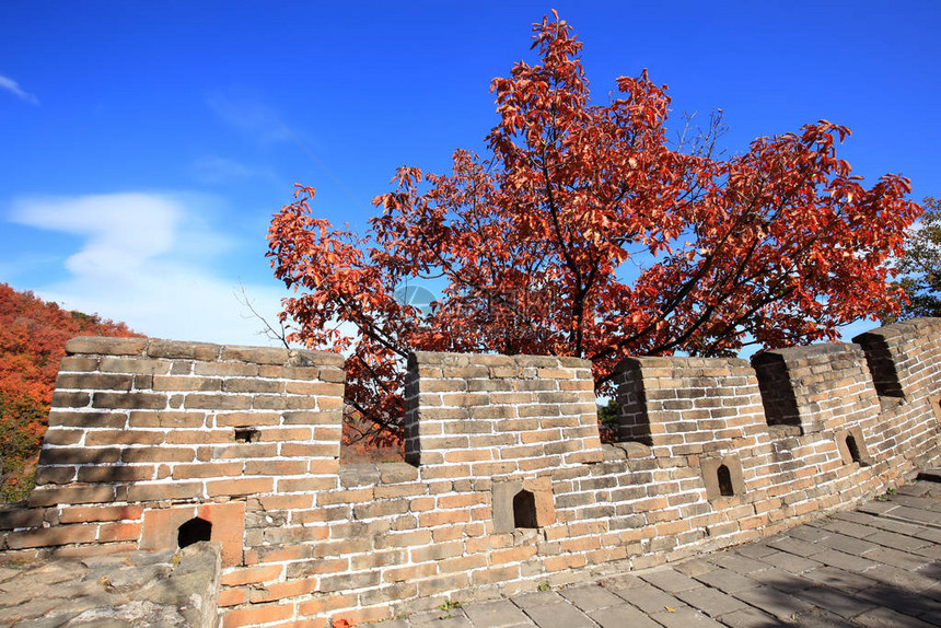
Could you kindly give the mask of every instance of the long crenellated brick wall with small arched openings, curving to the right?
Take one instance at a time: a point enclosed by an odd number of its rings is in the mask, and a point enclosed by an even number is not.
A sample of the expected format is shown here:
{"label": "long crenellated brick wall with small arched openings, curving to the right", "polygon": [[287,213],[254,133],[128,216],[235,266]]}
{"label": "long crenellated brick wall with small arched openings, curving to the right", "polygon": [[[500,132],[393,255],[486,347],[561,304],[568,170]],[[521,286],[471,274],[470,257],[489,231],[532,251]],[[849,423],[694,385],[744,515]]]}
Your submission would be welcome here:
{"label": "long crenellated brick wall with small arched openings, curving to the right", "polygon": [[75,338],[28,559],[218,542],[221,625],[328,626],[642,569],[853,507],[941,463],[941,319],[739,359],[417,352],[406,463],[341,466],[340,356]]}

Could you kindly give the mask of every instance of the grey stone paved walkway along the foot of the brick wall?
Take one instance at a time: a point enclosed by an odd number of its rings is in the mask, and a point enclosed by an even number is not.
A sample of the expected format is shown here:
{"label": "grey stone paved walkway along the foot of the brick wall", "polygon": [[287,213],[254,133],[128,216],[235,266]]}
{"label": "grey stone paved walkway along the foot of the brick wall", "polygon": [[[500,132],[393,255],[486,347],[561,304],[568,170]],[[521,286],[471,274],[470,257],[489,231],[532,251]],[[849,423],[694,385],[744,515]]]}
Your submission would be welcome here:
{"label": "grey stone paved walkway along the foot of the brick wall", "polygon": [[771,538],[382,628],[941,626],[941,472]]}

